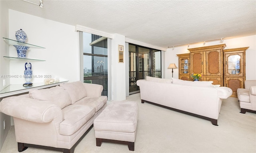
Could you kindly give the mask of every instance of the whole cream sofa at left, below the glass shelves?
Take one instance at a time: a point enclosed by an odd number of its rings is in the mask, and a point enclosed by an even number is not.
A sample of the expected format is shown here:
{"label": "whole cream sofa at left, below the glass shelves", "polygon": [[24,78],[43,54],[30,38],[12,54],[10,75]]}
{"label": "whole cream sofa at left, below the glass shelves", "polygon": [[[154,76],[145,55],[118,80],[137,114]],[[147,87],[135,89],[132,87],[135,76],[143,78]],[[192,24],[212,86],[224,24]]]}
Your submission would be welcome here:
{"label": "whole cream sofa at left, below the glass shelves", "polygon": [[30,90],[22,96],[4,98],[0,111],[13,116],[18,151],[39,147],[73,153],[106,107],[103,87],[80,81]]}

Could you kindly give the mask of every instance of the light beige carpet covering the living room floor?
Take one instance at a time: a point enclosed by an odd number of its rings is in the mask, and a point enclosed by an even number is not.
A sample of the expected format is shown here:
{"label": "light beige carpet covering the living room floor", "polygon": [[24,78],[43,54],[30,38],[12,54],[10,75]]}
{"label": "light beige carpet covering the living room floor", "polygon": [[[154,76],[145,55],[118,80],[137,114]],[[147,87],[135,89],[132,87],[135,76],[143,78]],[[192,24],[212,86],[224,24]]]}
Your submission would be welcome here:
{"label": "light beige carpet covering the living room floor", "polygon": [[[208,120],[168,110],[149,103],[141,104],[140,94],[127,97],[138,102],[135,151],[127,145],[103,142],[96,146],[94,129],[80,141],[75,153],[256,153],[256,114],[241,114],[237,98],[223,100],[214,126]],[[14,126],[1,153],[18,153]],[[28,148],[24,153],[61,153]]]}

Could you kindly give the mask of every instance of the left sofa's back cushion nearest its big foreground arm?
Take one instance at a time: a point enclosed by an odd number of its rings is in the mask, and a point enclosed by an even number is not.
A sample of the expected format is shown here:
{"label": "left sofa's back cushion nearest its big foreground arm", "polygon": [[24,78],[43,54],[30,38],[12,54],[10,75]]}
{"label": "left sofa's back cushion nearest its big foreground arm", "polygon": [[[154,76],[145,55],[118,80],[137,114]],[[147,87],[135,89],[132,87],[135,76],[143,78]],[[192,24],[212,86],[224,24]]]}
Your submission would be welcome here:
{"label": "left sofa's back cushion nearest its big foreground arm", "polygon": [[48,100],[50,103],[59,106],[61,109],[71,104],[71,98],[68,92],[60,86],[40,90],[32,89],[29,90],[28,95],[33,99]]}

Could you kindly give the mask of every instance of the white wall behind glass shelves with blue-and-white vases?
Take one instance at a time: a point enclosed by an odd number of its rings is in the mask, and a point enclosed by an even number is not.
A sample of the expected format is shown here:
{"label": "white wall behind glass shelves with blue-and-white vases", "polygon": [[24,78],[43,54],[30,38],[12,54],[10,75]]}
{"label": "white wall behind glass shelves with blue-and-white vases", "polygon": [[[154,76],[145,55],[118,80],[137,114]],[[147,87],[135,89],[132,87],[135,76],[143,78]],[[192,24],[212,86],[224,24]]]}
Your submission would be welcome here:
{"label": "white wall behind glass shelves with blue-and-white vases", "polygon": [[[70,82],[80,79],[79,33],[74,26],[52,20],[39,18],[22,12],[9,10],[9,35],[5,37],[16,40],[15,31],[22,29],[27,34],[26,43],[45,47],[30,48],[27,58],[42,59],[38,61],[10,61],[10,75],[24,75],[25,63],[32,64],[33,75],[64,78]],[[17,57],[15,47],[10,46],[11,57]],[[1,70],[2,71],[2,70]],[[32,82],[43,82],[44,78],[33,78]],[[10,78],[10,84],[23,84],[25,79]]]}

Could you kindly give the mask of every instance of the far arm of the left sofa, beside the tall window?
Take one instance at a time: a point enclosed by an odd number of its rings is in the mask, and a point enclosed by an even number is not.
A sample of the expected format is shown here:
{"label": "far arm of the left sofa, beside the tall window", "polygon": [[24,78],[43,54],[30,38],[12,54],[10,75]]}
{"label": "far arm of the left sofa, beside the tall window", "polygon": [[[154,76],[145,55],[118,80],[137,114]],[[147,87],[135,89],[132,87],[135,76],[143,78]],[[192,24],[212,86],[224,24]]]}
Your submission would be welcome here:
{"label": "far arm of the left sofa, beside the tall window", "polygon": [[83,83],[87,97],[100,97],[103,91],[103,86],[100,84]]}

